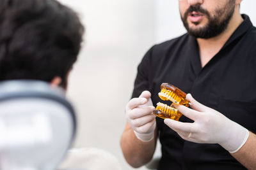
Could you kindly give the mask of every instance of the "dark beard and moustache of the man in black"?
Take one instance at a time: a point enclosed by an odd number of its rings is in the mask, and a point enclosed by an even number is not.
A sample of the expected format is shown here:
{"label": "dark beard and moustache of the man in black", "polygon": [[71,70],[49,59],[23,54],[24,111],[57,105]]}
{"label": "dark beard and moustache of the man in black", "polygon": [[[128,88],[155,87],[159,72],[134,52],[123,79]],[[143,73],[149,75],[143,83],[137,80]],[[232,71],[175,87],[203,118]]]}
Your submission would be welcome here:
{"label": "dark beard and moustache of the man in black", "polygon": [[[195,6],[190,6],[189,9],[184,14],[184,17],[182,19],[182,22],[184,24],[184,27],[187,29],[188,34],[191,36],[195,36],[196,38],[212,38],[214,36],[218,36],[223,32],[225,29],[227,29],[228,23],[230,22],[230,19],[232,18],[235,10],[235,3],[234,0],[230,0],[225,8],[221,8],[220,10],[215,11],[215,15],[211,17],[209,12],[207,10],[204,10],[200,4],[196,4]],[[188,24],[188,15],[192,11],[204,13],[208,18],[208,23],[204,27],[200,27],[198,29],[190,29]],[[225,17],[225,18],[223,18]],[[194,23],[195,25],[199,23]]]}

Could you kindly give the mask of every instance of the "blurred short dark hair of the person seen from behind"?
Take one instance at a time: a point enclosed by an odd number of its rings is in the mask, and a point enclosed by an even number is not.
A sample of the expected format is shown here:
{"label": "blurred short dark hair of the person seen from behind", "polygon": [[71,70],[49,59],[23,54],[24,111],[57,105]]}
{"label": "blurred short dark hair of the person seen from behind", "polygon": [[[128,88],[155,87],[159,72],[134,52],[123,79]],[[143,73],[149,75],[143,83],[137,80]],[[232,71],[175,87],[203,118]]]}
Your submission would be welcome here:
{"label": "blurred short dark hair of the person seen from behind", "polygon": [[55,0],[0,1],[0,81],[51,81],[77,60],[84,27],[77,14]]}

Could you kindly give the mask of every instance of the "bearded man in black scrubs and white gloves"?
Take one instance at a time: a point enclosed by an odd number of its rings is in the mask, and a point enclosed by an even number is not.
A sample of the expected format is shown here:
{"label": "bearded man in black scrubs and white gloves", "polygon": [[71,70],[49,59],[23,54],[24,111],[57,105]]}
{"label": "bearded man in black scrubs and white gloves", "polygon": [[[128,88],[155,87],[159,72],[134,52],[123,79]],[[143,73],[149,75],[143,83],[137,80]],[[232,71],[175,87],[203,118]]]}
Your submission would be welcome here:
{"label": "bearded man in black scrubs and white gloves", "polygon": [[[152,159],[158,136],[158,169],[256,169],[256,28],[241,1],[179,1],[188,34],[148,50],[125,108],[131,166]],[[152,115],[163,82],[188,93],[179,122]]]}

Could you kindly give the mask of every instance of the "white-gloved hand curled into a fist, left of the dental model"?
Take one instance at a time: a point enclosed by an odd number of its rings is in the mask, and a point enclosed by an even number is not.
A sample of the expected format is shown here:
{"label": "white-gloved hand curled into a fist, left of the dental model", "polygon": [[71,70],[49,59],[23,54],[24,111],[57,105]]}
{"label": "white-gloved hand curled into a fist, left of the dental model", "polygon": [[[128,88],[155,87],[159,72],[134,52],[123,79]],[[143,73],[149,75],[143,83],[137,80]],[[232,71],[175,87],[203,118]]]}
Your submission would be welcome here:
{"label": "white-gloved hand curled into a fist, left of the dental model", "polygon": [[155,108],[150,96],[150,92],[144,91],[140,97],[131,99],[125,107],[127,122],[141,141],[153,139],[156,129],[156,116],[152,114]]}

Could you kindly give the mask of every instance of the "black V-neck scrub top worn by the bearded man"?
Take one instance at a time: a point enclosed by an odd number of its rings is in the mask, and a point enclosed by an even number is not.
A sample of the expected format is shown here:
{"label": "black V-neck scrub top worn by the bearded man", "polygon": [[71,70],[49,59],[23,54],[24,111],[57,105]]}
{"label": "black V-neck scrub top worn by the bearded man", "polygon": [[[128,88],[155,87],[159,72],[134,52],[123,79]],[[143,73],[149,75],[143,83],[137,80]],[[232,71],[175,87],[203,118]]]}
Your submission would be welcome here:
{"label": "black V-neck scrub top worn by the bearded man", "polygon": [[[184,34],[153,46],[138,66],[132,97],[149,90],[156,106],[161,83],[171,83],[256,132],[256,28],[247,15],[242,17],[243,23],[203,68],[193,36]],[[220,145],[184,141],[163,119],[156,119],[162,150],[158,169],[246,169]],[[184,116],[180,121],[192,122]]]}

